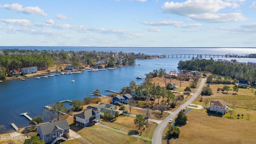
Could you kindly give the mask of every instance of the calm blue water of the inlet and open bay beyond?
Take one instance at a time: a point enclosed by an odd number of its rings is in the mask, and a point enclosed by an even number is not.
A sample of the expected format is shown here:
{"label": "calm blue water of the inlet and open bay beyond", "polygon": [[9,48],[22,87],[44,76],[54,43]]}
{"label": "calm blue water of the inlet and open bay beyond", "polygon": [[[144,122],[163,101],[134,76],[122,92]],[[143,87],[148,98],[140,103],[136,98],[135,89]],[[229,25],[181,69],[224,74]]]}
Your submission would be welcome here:
{"label": "calm blue water of the inlet and open bay beyond", "polygon": [[[256,54],[255,48],[89,48],[89,47],[0,47],[18,48],[18,49],[37,49],[37,50],[86,50],[86,51],[105,51],[105,52],[134,52],[144,54]],[[218,59],[218,58],[214,58]],[[240,62],[256,62],[250,58],[223,58],[236,59]],[[20,80],[4,80],[0,83],[0,125],[6,125],[6,132],[13,131],[10,123],[14,122],[19,128],[29,126],[29,120],[20,116],[22,112],[28,112],[34,116],[43,116],[44,106],[60,100],[83,100],[90,96],[95,89],[99,89],[102,94],[109,94],[104,90],[110,88],[120,91],[131,80],[141,83],[136,76],[145,77],[144,74],[152,72],[154,69],[165,68],[166,72],[177,70],[180,60],[190,60],[190,58],[162,58],[152,60],[136,60],[138,65],[120,67],[114,70],[105,70],[98,72],[84,71],[82,74],[65,74],[39,80],[26,78]],[[178,70],[177,70],[178,71]],[[71,80],[75,80],[74,83]],[[69,103],[65,106],[70,108]],[[18,112],[17,112],[18,111]],[[49,121],[44,118],[44,122]]]}

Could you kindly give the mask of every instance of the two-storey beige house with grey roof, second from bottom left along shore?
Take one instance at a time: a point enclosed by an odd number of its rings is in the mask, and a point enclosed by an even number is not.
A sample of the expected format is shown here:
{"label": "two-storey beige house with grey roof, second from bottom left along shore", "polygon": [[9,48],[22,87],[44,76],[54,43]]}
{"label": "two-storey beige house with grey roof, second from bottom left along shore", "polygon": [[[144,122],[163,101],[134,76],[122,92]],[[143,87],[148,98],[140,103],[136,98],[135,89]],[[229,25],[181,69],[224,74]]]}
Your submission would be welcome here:
{"label": "two-storey beige house with grey roof, second from bottom left along shore", "polygon": [[74,122],[76,124],[86,127],[89,126],[92,121],[99,122],[100,121],[100,109],[94,108],[92,106],[88,106],[86,110],[79,114],[74,115]]}

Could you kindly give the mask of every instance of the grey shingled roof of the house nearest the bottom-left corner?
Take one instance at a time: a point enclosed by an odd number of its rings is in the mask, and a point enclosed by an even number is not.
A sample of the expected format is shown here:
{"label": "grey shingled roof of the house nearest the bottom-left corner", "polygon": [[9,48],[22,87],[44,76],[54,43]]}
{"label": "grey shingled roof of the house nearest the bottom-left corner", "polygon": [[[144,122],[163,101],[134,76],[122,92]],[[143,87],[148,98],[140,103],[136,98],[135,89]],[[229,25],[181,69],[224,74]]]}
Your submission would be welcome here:
{"label": "grey shingled roof of the house nearest the bottom-left corner", "polygon": [[56,122],[49,122],[47,124],[41,124],[38,127],[41,128],[42,134],[50,134],[55,132],[56,130],[64,130],[70,128],[67,120],[59,120]]}

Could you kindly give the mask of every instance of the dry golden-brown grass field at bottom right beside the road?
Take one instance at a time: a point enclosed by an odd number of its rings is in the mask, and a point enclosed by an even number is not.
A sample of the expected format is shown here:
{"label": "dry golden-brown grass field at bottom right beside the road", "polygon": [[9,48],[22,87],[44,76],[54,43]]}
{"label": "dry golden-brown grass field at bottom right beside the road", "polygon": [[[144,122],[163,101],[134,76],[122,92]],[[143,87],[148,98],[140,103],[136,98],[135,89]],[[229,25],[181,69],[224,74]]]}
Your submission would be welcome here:
{"label": "dry golden-brown grass field at bottom right beside the road", "polygon": [[[245,109],[237,108],[239,112]],[[252,117],[256,115],[250,111]],[[244,118],[230,118],[230,116],[212,116],[205,110],[192,109],[187,114],[187,124],[180,128],[180,137],[171,140],[163,140],[163,144],[254,144],[256,122]],[[232,116],[234,117],[234,116]],[[165,130],[165,133],[167,128]],[[165,133],[163,136],[165,136]]]}

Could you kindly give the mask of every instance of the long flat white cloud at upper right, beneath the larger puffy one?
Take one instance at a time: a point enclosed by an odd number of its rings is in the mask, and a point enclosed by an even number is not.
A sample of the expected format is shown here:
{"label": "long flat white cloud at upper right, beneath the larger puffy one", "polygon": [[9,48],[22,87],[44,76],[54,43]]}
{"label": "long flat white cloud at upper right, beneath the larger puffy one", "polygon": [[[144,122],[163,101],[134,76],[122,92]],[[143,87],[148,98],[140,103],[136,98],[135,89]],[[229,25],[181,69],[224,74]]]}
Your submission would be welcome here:
{"label": "long flat white cloud at upper right, beneath the larger puffy one", "polygon": [[245,16],[240,13],[230,14],[201,14],[190,16],[191,19],[200,22],[218,23],[218,22],[236,22],[248,20]]}

